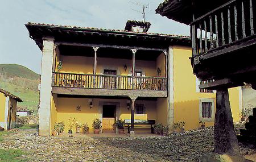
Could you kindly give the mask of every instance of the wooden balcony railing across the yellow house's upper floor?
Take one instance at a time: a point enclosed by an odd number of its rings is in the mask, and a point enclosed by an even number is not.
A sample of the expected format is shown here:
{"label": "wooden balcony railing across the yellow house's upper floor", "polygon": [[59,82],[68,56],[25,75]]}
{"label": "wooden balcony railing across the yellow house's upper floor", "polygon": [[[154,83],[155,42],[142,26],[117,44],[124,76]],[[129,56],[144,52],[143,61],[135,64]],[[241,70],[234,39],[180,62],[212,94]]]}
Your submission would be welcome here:
{"label": "wooden balcony railing across the yellow house's upper floor", "polygon": [[167,78],[53,72],[52,86],[90,89],[167,90]]}

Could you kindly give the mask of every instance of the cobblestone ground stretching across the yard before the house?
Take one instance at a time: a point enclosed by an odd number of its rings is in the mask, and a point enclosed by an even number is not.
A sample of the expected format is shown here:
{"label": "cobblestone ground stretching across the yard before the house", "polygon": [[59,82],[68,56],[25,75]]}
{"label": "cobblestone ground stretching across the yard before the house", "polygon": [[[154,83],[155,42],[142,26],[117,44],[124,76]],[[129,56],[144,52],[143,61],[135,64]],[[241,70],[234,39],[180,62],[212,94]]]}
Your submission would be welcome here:
{"label": "cobblestone ground stretching across the yard before the house", "polygon": [[[133,139],[42,137],[37,131],[15,130],[4,136],[0,148],[23,149],[29,161],[199,161],[214,144],[213,128]],[[242,155],[256,152],[243,144],[240,149]]]}

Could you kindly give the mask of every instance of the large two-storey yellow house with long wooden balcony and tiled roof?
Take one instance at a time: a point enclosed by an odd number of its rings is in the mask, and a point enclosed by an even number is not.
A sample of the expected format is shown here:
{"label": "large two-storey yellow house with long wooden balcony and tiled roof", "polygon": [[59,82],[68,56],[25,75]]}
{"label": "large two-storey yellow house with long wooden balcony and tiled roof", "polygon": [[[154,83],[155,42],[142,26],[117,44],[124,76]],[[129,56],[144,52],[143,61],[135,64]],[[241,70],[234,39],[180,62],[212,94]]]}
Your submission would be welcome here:
{"label": "large two-storey yellow house with long wooden balcony and tiled roof", "polygon": [[[185,130],[200,121],[213,125],[216,94],[198,88],[189,37],[147,33],[150,24],[135,21],[125,31],[25,26],[42,50],[39,135],[51,135],[56,122],[68,131],[71,117],[88,123],[90,132],[98,118],[103,133],[118,119],[155,120],[170,131],[181,121]],[[234,121],[242,109],[240,93],[230,89]]]}

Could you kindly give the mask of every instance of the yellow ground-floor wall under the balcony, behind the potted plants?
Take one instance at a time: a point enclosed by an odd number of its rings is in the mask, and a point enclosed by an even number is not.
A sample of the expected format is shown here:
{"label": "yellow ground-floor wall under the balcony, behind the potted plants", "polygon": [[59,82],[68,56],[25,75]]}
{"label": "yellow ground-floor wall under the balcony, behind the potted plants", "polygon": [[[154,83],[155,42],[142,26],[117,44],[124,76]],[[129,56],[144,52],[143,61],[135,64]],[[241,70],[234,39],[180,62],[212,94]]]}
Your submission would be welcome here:
{"label": "yellow ground-floor wall under the balcony, behind the potted plants", "polygon": [[[54,101],[53,101],[54,99]],[[56,100],[56,101],[55,101]],[[57,104],[53,104],[57,102]],[[90,109],[88,98],[52,98],[52,112],[51,112],[51,130],[56,122],[65,123],[65,132],[68,131],[68,119],[75,117],[80,123],[88,123],[90,132],[93,131],[93,119],[100,118],[99,108],[100,102],[119,102],[120,117],[119,119],[130,119],[131,109],[127,110],[126,99],[93,99],[93,107]],[[135,114],[135,119],[156,119],[156,101],[135,101],[135,103],[144,103],[146,107],[146,114]],[[55,105],[55,106],[54,106]],[[81,111],[77,111],[76,107],[80,106]],[[56,111],[55,111],[56,107]],[[56,113],[56,121],[55,121]],[[75,131],[75,127],[73,127]]]}

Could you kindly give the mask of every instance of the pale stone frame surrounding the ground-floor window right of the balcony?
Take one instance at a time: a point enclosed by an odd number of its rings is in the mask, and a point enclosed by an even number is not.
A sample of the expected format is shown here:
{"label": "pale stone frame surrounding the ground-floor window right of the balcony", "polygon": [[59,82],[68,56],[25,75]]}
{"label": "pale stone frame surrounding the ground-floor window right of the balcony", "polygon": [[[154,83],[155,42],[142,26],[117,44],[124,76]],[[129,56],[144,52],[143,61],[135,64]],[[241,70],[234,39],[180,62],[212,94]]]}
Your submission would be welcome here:
{"label": "pale stone frame surrounding the ground-floor window right of the balcony", "polygon": [[[210,118],[203,118],[203,102],[210,102],[211,103],[211,117]],[[205,122],[214,122],[214,114],[215,114],[215,99],[214,98],[200,98],[199,99],[199,120]]]}

